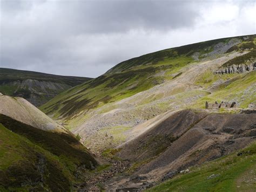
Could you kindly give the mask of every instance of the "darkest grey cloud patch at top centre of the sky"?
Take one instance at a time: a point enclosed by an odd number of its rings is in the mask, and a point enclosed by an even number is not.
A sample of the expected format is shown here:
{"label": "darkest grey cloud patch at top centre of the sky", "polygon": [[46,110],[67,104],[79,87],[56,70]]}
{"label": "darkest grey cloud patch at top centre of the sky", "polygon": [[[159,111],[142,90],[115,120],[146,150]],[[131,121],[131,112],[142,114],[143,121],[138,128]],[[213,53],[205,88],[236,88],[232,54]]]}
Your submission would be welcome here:
{"label": "darkest grey cloud patch at top centre of the sky", "polygon": [[[72,14],[75,6],[69,7]],[[83,2],[78,5],[78,10],[82,14],[74,19],[82,24],[84,32],[104,33],[189,27],[198,15],[193,4],[185,1]]]}

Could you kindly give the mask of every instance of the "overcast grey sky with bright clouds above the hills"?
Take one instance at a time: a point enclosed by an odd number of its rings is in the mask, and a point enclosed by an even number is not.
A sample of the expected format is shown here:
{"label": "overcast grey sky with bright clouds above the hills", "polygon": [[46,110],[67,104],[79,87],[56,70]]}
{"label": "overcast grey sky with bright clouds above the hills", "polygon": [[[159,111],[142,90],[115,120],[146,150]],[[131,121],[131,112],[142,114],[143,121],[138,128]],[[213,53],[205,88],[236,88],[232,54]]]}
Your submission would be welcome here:
{"label": "overcast grey sky with bright clouds above the hills", "polygon": [[256,33],[256,0],[0,2],[0,67],[69,76],[97,77],[145,53]]}

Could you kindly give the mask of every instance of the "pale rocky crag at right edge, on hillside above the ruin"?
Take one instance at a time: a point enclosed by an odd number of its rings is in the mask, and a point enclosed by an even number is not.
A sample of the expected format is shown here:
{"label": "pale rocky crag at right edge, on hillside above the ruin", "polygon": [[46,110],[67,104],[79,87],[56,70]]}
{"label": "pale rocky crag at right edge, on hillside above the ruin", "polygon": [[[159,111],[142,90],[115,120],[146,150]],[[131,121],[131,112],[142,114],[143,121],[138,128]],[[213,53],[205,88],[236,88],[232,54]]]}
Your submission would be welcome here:
{"label": "pale rocky crag at right edge, on hillside above the ruin", "polygon": [[247,71],[256,70],[256,59],[249,64],[231,65],[226,68],[221,68],[214,72],[214,74],[225,74],[225,73],[245,73]]}

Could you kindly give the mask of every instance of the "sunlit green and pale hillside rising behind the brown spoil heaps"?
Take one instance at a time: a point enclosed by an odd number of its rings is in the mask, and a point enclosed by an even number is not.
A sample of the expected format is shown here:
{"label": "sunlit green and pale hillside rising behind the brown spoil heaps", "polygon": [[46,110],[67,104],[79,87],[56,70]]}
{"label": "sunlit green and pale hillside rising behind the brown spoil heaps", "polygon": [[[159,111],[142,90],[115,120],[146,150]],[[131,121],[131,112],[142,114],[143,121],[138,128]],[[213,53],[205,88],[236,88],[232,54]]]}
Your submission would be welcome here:
{"label": "sunlit green and pale hillside rising behind the brown spoil heaps", "polygon": [[[255,102],[255,35],[174,47],[124,61],[40,108],[95,151],[116,147],[134,126],[205,101]],[[220,70],[241,65],[236,72]],[[251,68],[249,68],[250,66]],[[237,66],[238,68],[238,66]],[[105,135],[109,136],[105,136]],[[94,145],[98,138],[102,142]],[[107,143],[107,145],[105,145]]]}

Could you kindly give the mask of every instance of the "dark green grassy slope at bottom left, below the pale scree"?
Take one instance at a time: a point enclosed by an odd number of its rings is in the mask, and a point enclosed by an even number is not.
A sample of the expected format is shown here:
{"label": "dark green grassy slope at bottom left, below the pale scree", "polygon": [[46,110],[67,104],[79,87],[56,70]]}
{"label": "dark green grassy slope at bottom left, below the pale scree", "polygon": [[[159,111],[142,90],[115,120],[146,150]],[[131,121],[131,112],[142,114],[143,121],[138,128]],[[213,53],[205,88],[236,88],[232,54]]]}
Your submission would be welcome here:
{"label": "dark green grassy slope at bottom left, below the pale scree", "polygon": [[71,191],[97,162],[68,134],[0,115],[0,191]]}

